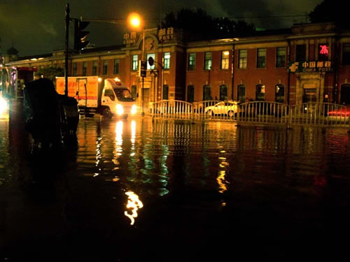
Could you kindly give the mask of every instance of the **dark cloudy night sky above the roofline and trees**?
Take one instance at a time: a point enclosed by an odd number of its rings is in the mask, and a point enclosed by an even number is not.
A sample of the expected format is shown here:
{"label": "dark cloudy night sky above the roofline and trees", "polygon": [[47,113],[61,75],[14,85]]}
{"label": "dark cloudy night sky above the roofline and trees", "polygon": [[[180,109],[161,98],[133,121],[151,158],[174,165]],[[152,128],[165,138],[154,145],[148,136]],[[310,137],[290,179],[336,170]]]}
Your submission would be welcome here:
{"label": "dark cloudy night sky above the roofline and trees", "polygon": [[[132,12],[146,19],[146,28],[156,27],[160,17],[181,8],[199,7],[212,17],[247,17],[246,22],[263,29],[290,27],[293,22],[308,22],[305,15],[322,0],[0,0],[0,52],[10,47],[20,56],[48,54],[64,48],[66,3],[71,17],[124,20]],[[295,17],[290,17],[295,15]],[[303,15],[303,16],[300,16]],[[280,17],[285,16],[285,17]],[[253,18],[255,17],[255,18]],[[125,24],[90,22],[90,43],[96,46],[119,45]],[[70,31],[73,32],[71,22]],[[72,38],[72,37],[71,37]]]}

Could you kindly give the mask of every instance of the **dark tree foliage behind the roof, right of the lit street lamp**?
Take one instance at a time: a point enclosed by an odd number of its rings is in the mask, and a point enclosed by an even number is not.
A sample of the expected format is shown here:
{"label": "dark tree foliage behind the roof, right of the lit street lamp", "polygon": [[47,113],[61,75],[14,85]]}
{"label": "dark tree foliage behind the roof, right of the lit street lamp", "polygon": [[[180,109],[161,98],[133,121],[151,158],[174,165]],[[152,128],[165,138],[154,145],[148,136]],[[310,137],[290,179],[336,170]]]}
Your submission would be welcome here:
{"label": "dark tree foliage behind the roof, right of the lit street lamp", "polygon": [[201,8],[182,8],[176,14],[167,13],[161,27],[174,27],[186,34],[188,41],[249,36],[255,32],[253,24],[227,17],[211,17]]}

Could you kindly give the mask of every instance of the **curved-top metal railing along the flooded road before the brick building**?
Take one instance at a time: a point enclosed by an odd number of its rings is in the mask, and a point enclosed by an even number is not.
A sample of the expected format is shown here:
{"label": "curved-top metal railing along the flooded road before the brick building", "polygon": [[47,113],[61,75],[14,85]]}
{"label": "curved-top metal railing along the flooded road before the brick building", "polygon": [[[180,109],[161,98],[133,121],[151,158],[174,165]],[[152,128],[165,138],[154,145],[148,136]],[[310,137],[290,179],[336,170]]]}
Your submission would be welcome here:
{"label": "curved-top metal railing along the flooded road before the brick building", "polygon": [[335,103],[285,105],[269,101],[158,101],[151,108],[153,117],[207,121],[233,121],[238,124],[286,124],[349,126],[350,108]]}

